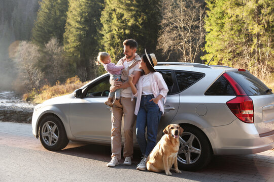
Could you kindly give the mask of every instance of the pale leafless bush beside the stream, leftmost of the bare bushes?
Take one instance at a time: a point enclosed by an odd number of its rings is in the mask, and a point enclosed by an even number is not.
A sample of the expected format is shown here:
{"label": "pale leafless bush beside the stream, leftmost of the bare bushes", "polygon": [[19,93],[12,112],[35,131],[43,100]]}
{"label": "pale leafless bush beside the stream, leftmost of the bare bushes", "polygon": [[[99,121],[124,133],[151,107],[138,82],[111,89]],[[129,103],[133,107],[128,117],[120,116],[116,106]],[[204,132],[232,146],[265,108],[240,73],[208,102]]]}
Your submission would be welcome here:
{"label": "pale leafless bush beside the stream, leftmost of the bare bushes", "polygon": [[43,79],[42,71],[36,66],[39,59],[40,53],[37,45],[27,41],[19,43],[16,54],[16,61],[19,67],[17,84],[21,84],[20,87],[23,87],[24,91],[35,89],[39,92]]}

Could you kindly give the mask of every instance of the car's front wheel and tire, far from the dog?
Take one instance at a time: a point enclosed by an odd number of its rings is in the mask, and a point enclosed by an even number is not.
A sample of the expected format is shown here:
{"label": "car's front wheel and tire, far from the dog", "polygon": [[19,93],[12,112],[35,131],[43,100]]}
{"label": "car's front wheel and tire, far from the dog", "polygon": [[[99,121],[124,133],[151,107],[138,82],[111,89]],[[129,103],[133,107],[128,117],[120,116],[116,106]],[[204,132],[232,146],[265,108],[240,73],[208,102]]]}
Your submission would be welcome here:
{"label": "car's front wheel and tire, far from the dog", "polygon": [[65,148],[69,142],[63,124],[55,116],[46,116],[39,127],[39,139],[42,145],[50,151]]}

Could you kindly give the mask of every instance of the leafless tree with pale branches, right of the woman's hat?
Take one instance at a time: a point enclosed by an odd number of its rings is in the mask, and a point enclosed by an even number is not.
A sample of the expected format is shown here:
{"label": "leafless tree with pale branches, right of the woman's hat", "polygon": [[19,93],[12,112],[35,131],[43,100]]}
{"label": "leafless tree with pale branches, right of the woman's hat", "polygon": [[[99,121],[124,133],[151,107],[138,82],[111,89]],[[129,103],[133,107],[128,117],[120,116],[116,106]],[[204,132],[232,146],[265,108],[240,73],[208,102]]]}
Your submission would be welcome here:
{"label": "leafless tree with pale branches, right of the woman's hat", "polygon": [[169,56],[178,53],[179,61],[194,62],[204,43],[205,4],[199,0],[163,0],[162,29],[157,49]]}

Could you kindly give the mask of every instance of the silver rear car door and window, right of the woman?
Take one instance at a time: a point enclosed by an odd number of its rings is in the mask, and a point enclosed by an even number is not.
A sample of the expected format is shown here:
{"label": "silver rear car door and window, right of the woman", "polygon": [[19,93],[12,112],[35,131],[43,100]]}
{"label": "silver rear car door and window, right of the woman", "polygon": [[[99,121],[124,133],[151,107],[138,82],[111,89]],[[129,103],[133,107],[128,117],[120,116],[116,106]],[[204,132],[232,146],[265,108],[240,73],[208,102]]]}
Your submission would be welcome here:
{"label": "silver rear car door and window, right of the woman", "polygon": [[180,103],[180,95],[178,85],[175,79],[175,74],[173,70],[157,70],[162,74],[163,79],[167,85],[168,93],[166,97],[166,102],[164,104],[164,115],[162,115],[159,126],[158,126],[158,136],[157,141],[161,139],[163,135],[163,129],[170,123],[172,123],[175,117]]}

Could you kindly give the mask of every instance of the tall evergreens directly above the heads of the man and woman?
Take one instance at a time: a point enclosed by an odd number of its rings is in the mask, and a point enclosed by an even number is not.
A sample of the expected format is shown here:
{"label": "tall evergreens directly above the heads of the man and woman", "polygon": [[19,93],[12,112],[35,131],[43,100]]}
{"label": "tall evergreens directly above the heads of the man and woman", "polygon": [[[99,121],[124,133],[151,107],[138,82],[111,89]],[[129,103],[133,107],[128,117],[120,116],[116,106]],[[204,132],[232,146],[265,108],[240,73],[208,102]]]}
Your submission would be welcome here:
{"label": "tall evergreens directly above the heads of the man and woman", "polygon": [[117,62],[123,57],[125,39],[135,39],[138,53],[144,48],[154,52],[160,23],[160,2],[157,0],[106,0],[101,23],[102,50]]}

